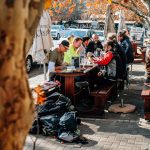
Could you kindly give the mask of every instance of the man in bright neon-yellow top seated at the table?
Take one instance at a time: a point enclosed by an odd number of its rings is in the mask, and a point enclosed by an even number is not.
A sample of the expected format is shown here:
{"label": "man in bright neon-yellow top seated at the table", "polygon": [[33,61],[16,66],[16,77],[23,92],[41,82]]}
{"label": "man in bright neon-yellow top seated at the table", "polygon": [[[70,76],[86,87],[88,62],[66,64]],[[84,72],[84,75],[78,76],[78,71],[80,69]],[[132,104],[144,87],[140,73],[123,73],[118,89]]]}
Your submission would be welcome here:
{"label": "man in bright neon-yellow top seated at the table", "polygon": [[78,48],[81,46],[81,44],[82,44],[82,39],[77,37],[74,39],[73,43],[70,45],[69,50],[65,52],[64,62],[67,65],[71,65],[72,57],[80,56]]}

